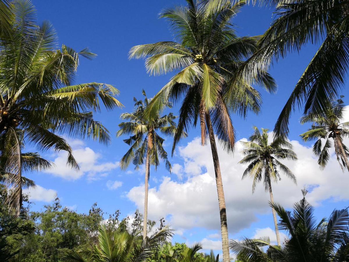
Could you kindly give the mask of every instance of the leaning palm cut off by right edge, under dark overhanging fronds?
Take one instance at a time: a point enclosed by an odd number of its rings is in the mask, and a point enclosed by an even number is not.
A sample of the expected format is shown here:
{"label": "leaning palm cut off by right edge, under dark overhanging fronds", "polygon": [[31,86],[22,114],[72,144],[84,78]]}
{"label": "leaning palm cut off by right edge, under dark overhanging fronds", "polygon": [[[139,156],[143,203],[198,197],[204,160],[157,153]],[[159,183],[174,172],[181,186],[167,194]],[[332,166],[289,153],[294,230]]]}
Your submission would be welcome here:
{"label": "leaning palm cut off by right edge, under dark overhanging fronds", "polygon": [[[308,131],[300,134],[304,141],[316,140],[313,146],[313,152],[319,157],[318,164],[320,168],[325,168],[331,157],[329,148],[334,146],[337,160],[340,167],[347,168],[349,171],[349,150],[343,144],[343,138],[349,136],[349,122],[341,123],[344,113],[344,102],[341,99],[328,103],[327,107],[318,114],[309,114],[301,118],[302,124],[311,122],[312,126]],[[333,139],[333,144],[331,140]],[[325,144],[322,146],[322,139]]]}

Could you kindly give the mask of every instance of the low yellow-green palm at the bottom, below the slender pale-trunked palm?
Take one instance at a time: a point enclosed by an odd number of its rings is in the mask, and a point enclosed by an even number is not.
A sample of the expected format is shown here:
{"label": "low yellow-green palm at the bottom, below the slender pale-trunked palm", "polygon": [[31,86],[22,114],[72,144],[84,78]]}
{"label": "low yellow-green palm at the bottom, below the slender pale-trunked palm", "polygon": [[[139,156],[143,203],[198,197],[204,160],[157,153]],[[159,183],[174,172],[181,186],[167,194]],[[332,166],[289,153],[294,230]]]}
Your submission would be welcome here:
{"label": "low yellow-green palm at the bottom, below the slender pale-trunked palm", "polygon": [[158,250],[158,244],[163,239],[172,236],[167,227],[158,233],[142,240],[140,232],[130,234],[107,230],[102,225],[98,231],[98,245],[79,251],[68,251],[62,254],[64,261],[95,261],[95,262],[142,262],[148,259]]}

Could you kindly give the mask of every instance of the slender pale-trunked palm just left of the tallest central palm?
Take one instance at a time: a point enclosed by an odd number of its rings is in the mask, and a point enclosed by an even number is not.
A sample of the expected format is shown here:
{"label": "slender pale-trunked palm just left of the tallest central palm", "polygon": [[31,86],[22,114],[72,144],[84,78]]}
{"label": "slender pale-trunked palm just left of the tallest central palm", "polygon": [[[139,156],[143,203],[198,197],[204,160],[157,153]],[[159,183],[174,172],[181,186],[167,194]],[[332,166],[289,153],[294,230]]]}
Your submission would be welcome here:
{"label": "slender pale-trunked palm just left of the tallest central palm", "polygon": [[[138,169],[144,164],[145,159],[145,178],[144,178],[144,218],[143,218],[143,239],[147,237],[147,222],[148,222],[148,181],[150,176],[150,165],[155,168],[159,165],[159,159],[165,162],[165,167],[171,172],[171,164],[168,160],[168,155],[163,148],[164,139],[159,136],[162,133],[166,136],[173,136],[176,132],[176,123],[172,113],[160,117],[160,112],[157,111],[151,117],[144,114],[144,109],[148,105],[150,99],[147,98],[144,90],[144,102],[137,100],[135,97],[135,110],[132,113],[123,113],[120,118],[127,120],[119,124],[120,130],[117,132],[117,137],[123,134],[131,134],[125,143],[130,146],[126,154],[121,158],[120,167],[126,169],[132,163]],[[167,104],[170,107],[170,104]]]}

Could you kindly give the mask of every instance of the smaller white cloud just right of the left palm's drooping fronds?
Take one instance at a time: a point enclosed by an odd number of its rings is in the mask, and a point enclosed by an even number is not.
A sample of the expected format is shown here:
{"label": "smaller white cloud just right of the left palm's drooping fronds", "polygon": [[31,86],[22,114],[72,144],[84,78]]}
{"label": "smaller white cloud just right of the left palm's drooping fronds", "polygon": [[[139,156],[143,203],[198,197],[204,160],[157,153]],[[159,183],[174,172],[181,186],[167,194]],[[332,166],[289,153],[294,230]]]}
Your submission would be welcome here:
{"label": "smaller white cloud just right of the left palm's drooping fronds", "polygon": [[99,163],[101,154],[96,153],[89,147],[85,147],[81,140],[69,141],[69,144],[73,148],[73,155],[76,161],[79,163],[80,170],[75,171],[67,166],[67,153],[59,152],[55,159],[55,167],[46,170],[46,173],[60,176],[67,180],[76,180],[87,175],[88,180],[97,180],[100,177],[107,176],[108,172],[119,167],[119,162],[104,162]]}

